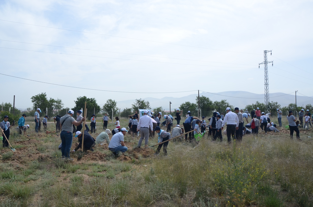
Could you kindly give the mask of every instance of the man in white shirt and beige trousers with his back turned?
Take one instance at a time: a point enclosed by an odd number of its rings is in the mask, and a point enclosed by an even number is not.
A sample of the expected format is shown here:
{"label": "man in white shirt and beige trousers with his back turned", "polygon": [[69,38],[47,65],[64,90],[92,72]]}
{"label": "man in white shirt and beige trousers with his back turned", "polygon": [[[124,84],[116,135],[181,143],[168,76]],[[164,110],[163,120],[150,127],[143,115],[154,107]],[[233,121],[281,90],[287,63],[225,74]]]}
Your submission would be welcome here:
{"label": "man in white shirt and beige trousers with his back turned", "polygon": [[153,129],[152,119],[147,115],[148,110],[145,110],[143,112],[143,116],[139,119],[138,125],[137,125],[137,132],[140,131],[140,139],[138,142],[137,147],[141,147],[141,143],[143,139],[145,139],[145,148],[148,148],[148,141],[149,141],[149,127]]}

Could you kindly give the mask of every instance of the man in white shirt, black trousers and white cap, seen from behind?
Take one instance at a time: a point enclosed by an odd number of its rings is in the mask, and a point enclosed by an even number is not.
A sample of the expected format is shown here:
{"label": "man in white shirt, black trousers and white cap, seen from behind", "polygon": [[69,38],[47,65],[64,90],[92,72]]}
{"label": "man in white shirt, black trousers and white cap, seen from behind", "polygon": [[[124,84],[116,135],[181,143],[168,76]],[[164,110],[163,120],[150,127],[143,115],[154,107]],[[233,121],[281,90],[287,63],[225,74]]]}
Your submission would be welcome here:
{"label": "man in white shirt, black trousers and white cap, seen from behind", "polygon": [[229,107],[226,108],[226,115],[222,123],[222,130],[226,123],[227,123],[227,128],[226,128],[227,140],[228,140],[228,143],[230,143],[231,142],[230,135],[233,137],[233,139],[236,139],[235,133],[236,133],[236,129],[238,129],[238,126],[239,126],[239,119],[238,119],[237,114],[233,113]]}

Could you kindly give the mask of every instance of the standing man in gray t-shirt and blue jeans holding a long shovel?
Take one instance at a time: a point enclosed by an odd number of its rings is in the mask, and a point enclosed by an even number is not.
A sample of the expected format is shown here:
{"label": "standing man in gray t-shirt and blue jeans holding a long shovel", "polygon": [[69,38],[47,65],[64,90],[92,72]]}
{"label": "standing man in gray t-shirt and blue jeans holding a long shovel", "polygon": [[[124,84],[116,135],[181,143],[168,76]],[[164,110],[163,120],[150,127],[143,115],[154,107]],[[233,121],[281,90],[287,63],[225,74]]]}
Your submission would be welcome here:
{"label": "standing man in gray t-shirt and blue jeans holding a long shovel", "polygon": [[[77,122],[73,118],[74,111],[69,110],[67,114],[61,117],[60,119],[60,128],[61,128],[61,141],[62,141],[62,158],[68,158],[69,159],[69,152],[72,147],[72,141],[73,141],[73,124],[75,126],[79,126],[83,121],[86,120],[86,117],[81,119],[79,122]],[[72,159],[73,160],[73,159]]]}

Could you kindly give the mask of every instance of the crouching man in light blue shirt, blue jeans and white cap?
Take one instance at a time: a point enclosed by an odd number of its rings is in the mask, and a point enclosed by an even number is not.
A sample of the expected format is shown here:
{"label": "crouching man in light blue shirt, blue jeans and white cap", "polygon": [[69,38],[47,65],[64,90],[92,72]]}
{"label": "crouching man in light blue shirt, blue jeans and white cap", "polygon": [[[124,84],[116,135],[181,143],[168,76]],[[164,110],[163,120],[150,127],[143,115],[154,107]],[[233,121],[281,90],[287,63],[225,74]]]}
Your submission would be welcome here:
{"label": "crouching man in light blue shirt, blue jeans and white cap", "polygon": [[126,128],[122,128],[120,132],[114,134],[111,138],[109,149],[116,156],[119,151],[126,152],[127,147],[124,143],[124,135],[128,132]]}

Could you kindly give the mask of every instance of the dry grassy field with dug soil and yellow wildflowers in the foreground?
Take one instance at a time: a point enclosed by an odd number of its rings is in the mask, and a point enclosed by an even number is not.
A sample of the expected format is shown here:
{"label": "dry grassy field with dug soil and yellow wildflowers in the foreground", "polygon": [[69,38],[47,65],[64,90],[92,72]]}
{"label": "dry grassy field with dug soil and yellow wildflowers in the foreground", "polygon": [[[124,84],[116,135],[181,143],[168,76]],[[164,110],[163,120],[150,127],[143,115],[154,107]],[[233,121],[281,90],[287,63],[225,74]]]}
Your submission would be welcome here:
{"label": "dry grassy field with dug soil and yellow wildflowers in the foreground", "polygon": [[[11,128],[16,152],[0,148],[0,206],[313,206],[311,129],[300,131],[302,141],[286,130],[230,145],[225,135],[223,142],[205,136],[198,145],[170,141],[167,157],[154,156],[156,148],[134,149],[139,138],[126,134],[129,150],[119,158],[99,145],[67,162],[60,159],[59,134],[35,134],[28,124],[30,137]],[[94,138],[103,131],[97,127]]]}

